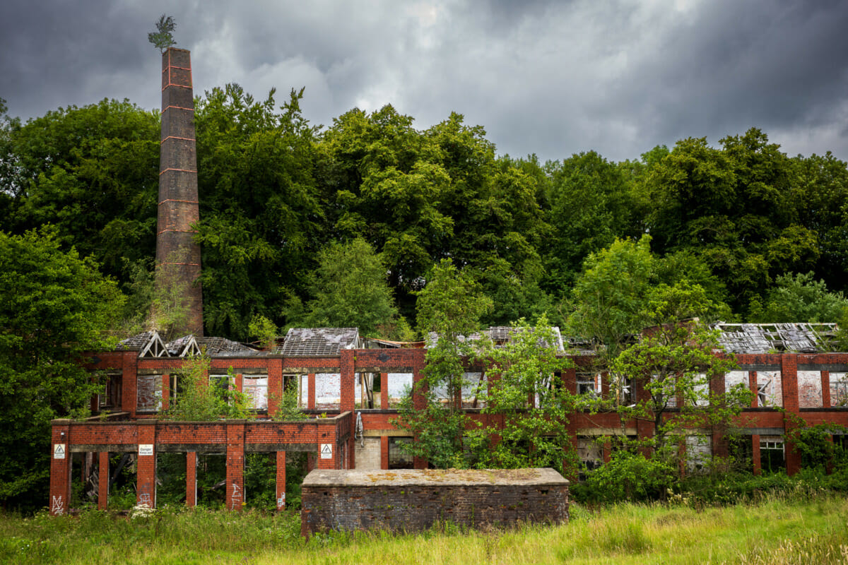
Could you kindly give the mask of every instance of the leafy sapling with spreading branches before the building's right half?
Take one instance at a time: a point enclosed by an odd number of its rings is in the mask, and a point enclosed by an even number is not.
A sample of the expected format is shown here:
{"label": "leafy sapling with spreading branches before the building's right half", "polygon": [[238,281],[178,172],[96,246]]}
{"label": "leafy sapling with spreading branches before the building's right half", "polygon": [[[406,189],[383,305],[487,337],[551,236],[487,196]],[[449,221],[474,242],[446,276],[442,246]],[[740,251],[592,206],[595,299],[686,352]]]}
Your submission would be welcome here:
{"label": "leafy sapling with spreading branches before the building's right half", "polygon": [[710,389],[711,375],[727,373],[736,363],[720,351],[715,331],[698,319],[685,319],[709,307],[700,285],[659,285],[644,310],[645,319],[655,325],[643,330],[609,367],[611,388],[622,391],[611,407],[622,428],[633,420],[652,424],[653,435],[626,446],[675,468],[682,468],[687,438],[691,441],[705,429],[728,429],[750,405],[744,386]]}

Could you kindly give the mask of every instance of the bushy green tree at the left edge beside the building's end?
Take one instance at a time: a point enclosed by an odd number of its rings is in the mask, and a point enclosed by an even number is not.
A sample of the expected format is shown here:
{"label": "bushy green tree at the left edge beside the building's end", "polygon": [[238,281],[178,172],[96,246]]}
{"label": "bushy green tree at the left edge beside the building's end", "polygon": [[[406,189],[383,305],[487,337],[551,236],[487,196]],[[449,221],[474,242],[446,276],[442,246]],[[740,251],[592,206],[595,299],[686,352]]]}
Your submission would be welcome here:
{"label": "bushy green tree at the left edge beside the building's end", "polygon": [[97,263],[56,231],[0,232],[0,501],[41,506],[50,472],[50,420],[86,413],[98,376],[86,352],[114,345],[107,330],[123,296]]}

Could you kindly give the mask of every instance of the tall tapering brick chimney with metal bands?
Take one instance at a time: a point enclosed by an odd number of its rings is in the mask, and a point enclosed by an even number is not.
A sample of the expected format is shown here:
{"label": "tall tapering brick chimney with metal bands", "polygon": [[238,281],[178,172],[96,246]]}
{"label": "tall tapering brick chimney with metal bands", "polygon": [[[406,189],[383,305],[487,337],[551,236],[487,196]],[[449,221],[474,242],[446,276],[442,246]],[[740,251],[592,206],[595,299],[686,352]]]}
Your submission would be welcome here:
{"label": "tall tapering brick chimney with metal bands", "polygon": [[175,335],[204,333],[200,246],[193,241],[196,231],[192,230],[200,218],[197,162],[191,55],[170,47],[162,55],[156,286],[158,291],[170,289],[166,296],[187,309],[184,323],[174,328]]}

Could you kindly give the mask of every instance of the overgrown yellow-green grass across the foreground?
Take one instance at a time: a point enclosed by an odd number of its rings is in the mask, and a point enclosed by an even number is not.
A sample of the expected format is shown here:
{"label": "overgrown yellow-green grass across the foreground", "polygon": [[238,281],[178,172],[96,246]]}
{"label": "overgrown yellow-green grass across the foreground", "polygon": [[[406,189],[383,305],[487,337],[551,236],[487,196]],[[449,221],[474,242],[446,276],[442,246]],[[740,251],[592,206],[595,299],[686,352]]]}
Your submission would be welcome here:
{"label": "overgrown yellow-green grass across the foreground", "polygon": [[560,526],[419,535],[299,535],[297,512],[168,509],[130,519],[0,515],[3,563],[784,563],[848,562],[848,499],[784,491],[754,504],[572,506]]}

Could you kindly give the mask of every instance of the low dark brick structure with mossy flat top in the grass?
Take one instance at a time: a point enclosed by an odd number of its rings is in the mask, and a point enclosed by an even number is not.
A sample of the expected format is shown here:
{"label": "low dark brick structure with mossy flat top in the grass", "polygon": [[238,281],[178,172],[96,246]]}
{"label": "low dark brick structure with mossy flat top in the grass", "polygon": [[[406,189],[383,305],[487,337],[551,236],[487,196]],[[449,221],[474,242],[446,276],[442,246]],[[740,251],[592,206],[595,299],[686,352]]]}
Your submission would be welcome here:
{"label": "low dark brick structure with mossy flat top in the grass", "polygon": [[568,521],[568,481],[551,468],[396,471],[315,469],[301,492],[301,534],[418,531]]}

